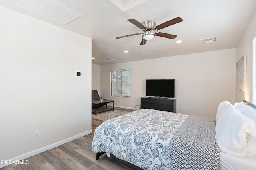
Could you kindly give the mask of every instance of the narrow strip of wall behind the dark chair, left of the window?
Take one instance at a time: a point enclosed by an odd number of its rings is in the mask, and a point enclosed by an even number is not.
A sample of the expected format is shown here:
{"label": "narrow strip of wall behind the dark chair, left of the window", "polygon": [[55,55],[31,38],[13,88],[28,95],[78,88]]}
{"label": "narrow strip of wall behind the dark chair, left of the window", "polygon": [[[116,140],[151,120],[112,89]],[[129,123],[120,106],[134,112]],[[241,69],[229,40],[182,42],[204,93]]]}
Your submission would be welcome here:
{"label": "narrow strip of wall behind the dark chair, left of the window", "polygon": [[92,64],[92,90],[100,95],[100,65]]}

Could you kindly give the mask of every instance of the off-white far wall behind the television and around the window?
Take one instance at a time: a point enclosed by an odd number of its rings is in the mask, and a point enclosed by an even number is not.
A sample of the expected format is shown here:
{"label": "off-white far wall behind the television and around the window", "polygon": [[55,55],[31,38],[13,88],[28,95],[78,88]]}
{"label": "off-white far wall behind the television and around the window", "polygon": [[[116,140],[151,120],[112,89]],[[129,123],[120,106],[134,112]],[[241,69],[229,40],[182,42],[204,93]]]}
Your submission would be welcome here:
{"label": "off-white far wall behind the television and around the window", "polygon": [[[177,112],[215,117],[224,100],[234,104],[236,50],[226,49],[100,66],[100,91],[115,105],[135,108],[145,96],[146,79],[176,81]],[[132,69],[132,98],[111,97],[110,70]]]}

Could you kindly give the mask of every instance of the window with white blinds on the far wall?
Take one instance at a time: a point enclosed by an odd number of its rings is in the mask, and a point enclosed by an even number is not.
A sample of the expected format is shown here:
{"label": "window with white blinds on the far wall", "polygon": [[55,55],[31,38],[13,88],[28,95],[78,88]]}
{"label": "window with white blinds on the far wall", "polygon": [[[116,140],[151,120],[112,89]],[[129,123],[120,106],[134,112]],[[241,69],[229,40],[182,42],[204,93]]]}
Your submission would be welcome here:
{"label": "window with white blinds on the far wall", "polygon": [[132,69],[110,71],[110,96],[131,97]]}

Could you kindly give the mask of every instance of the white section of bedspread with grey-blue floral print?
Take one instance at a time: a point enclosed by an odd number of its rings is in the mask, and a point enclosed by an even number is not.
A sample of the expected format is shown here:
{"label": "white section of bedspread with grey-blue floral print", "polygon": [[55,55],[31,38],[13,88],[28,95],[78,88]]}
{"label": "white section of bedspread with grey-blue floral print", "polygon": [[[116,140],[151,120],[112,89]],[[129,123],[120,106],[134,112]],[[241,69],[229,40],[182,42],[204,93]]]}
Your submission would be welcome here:
{"label": "white section of bedspread with grey-blue floral print", "polygon": [[108,152],[145,170],[170,169],[170,140],[189,115],[142,109],[104,121],[92,152]]}

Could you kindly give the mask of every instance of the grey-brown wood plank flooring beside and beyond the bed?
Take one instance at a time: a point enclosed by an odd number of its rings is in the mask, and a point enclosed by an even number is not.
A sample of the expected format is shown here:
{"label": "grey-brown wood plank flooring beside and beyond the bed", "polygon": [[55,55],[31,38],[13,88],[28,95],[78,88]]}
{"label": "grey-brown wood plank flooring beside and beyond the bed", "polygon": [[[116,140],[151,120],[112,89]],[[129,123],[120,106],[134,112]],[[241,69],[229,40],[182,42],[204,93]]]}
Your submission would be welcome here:
{"label": "grey-brown wood plank flooring beside and beyond the bed", "polygon": [[[115,109],[121,108],[116,107]],[[96,160],[96,154],[91,151],[92,138],[94,129],[101,123],[102,121],[92,119],[92,134],[31,156],[24,160],[24,162],[28,160],[28,164],[11,164],[0,168],[0,170],[142,170],[113,155],[108,158],[104,154],[100,156],[99,160]]]}

